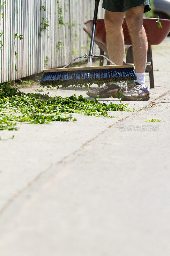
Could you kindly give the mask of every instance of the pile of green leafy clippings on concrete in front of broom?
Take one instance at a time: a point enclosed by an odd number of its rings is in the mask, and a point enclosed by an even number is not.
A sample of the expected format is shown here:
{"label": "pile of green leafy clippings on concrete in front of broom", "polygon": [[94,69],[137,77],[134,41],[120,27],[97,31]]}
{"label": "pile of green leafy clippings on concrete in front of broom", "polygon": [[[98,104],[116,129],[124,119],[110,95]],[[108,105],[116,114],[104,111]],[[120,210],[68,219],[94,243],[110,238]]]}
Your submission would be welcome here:
{"label": "pile of green leafy clippings on concrete in front of broom", "polygon": [[[75,94],[63,98],[47,94],[22,93],[4,83],[0,88],[0,130],[18,130],[18,124],[49,124],[53,121],[76,121],[72,113],[87,116],[109,116],[107,111],[129,111],[127,105],[100,103]],[[69,115],[67,115],[69,114]]]}

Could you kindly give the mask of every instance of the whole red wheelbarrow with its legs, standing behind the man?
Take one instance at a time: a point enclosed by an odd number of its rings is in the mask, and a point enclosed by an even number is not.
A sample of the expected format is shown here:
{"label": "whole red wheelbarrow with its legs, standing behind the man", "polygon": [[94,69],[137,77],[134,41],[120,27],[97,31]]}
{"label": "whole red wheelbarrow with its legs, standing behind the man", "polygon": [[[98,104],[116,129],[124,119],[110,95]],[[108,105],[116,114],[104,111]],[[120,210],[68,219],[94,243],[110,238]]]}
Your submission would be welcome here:
{"label": "whole red wheelbarrow with its legs, standing behind the man", "polygon": [[[146,36],[148,39],[147,63],[145,72],[149,73],[150,88],[154,88],[152,45],[160,44],[166,38],[170,31],[170,20],[159,19],[159,21],[162,24],[162,28],[158,28],[158,24],[156,22],[157,20],[158,19],[154,18],[143,18],[143,26],[146,31]],[[92,33],[92,22],[92,20],[84,22],[85,26],[83,29],[89,35],[89,37],[91,37]],[[124,43],[126,45],[130,45],[126,54],[126,64],[134,63],[132,41],[129,35],[125,18],[123,19],[122,28],[124,34]],[[104,19],[97,20],[94,42],[100,48],[100,55],[104,55],[104,53],[108,55]],[[104,57],[100,57],[100,66],[103,65],[103,62]],[[107,65],[110,65],[108,61]]]}

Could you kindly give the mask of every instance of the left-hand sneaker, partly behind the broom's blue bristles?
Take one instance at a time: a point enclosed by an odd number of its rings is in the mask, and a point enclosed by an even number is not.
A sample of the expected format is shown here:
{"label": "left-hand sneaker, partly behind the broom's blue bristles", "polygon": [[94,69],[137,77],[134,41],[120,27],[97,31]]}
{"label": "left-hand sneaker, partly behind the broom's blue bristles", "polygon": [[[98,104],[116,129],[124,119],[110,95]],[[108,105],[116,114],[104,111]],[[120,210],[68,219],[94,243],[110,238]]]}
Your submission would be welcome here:
{"label": "left-hand sneaker, partly behind the broom's blue bristles", "polygon": [[[125,88],[125,82],[122,82],[120,85],[118,84],[103,84],[100,88],[96,88],[94,90],[88,90],[86,94],[92,98],[99,96],[99,98],[118,98],[117,95],[122,93]],[[122,97],[122,96],[121,96]]]}

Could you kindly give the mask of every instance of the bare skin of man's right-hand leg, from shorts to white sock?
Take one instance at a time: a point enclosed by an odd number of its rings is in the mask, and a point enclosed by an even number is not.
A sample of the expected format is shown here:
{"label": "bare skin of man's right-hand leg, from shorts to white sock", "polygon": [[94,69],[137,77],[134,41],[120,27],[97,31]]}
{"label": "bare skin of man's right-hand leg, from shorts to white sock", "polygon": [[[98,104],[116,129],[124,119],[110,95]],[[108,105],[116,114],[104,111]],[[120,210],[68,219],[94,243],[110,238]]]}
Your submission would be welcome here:
{"label": "bare skin of man's right-hand leg, from shorts to white sock", "polygon": [[144,6],[137,6],[126,11],[126,23],[133,44],[136,73],[144,73],[147,60],[148,42],[143,27]]}

